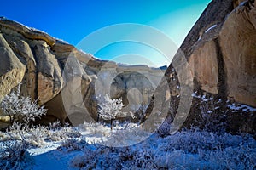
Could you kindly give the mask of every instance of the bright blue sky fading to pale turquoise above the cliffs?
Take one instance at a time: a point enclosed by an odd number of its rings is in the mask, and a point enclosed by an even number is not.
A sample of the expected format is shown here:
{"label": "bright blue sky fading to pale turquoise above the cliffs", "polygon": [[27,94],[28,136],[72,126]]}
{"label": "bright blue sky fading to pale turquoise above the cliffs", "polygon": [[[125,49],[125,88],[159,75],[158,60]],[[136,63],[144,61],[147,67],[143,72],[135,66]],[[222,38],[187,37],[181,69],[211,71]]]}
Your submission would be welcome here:
{"label": "bright blue sky fading to pale turquoise above the cliffs", "polygon": [[[211,0],[25,0],[4,1],[0,15],[49,33],[77,46],[84,37],[105,26],[136,23],[152,26],[177,45],[183,42]],[[104,38],[104,37],[102,37]],[[79,46],[86,53],[86,47]],[[129,54],[132,54],[129,58]],[[144,44],[113,42],[94,53],[97,58],[128,64],[169,65],[170,59]],[[123,57],[119,57],[123,56]],[[137,59],[141,56],[142,59]],[[149,63],[145,63],[149,60]]]}

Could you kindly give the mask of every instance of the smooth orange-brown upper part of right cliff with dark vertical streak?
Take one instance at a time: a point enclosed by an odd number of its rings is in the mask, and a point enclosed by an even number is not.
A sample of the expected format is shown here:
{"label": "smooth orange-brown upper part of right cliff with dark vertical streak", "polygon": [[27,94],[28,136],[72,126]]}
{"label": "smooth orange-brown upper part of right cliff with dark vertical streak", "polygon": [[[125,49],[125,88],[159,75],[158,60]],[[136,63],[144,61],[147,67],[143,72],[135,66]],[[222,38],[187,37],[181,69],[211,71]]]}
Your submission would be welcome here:
{"label": "smooth orange-brown upper part of right cliff with dark vertical streak", "polygon": [[[215,2],[212,4],[217,4]],[[228,1],[219,4],[232,5]],[[254,5],[254,1],[240,3],[222,16],[222,20],[207,23],[201,37],[191,46],[190,54],[186,54],[186,50],[184,53],[193,65],[193,76],[202,90],[256,107]],[[195,27],[199,27],[198,24]],[[187,48],[187,44],[182,48]]]}

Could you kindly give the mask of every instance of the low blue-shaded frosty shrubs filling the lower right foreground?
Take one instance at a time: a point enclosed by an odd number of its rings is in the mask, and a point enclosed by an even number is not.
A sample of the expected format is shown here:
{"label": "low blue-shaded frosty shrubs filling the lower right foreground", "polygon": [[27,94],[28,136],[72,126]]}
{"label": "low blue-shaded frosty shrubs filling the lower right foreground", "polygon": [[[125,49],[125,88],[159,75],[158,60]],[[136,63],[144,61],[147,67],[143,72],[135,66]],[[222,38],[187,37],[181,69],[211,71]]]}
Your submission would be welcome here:
{"label": "low blue-shaded frosty shrubs filling the lower right foreground", "polygon": [[87,144],[73,157],[79,169],[255,169],[256,142],[250,135],[184,130],[140,144],[113,148]]}

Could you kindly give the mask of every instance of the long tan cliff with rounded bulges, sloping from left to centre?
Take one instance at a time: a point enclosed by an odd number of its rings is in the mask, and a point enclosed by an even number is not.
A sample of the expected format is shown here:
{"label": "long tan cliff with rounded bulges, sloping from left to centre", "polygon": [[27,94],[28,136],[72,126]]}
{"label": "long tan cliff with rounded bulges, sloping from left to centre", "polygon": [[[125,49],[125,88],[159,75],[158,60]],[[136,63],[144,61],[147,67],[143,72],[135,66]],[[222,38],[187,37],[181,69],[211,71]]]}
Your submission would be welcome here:
{"label": "long tan cliff with rounded bulges, sloping from left to centre", "polygon": [[5,18],[0,19],[0,57],[0,100],[21,82],[21,94],[38,99],[48,109],[40,123],[65,122],[67,116],[73,124],[94,121],[98,94],[121,97],[126,110],[148,105],[165,72],[95,59]]}

